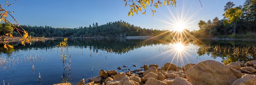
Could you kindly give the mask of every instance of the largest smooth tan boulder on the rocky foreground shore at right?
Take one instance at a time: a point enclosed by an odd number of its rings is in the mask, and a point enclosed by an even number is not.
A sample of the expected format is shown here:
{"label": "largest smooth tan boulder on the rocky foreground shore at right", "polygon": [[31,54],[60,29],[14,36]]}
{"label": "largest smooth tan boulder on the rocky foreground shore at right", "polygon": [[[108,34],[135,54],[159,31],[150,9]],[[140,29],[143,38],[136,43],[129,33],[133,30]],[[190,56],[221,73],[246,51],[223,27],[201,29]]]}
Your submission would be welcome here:
{"label": "largest smooth tan boulder on the rocky foreground shore at right", "polygon": [[241,72],[214,60],[199,62],[186,71],[186,78],[193,85],[231,85],[241,76]]}

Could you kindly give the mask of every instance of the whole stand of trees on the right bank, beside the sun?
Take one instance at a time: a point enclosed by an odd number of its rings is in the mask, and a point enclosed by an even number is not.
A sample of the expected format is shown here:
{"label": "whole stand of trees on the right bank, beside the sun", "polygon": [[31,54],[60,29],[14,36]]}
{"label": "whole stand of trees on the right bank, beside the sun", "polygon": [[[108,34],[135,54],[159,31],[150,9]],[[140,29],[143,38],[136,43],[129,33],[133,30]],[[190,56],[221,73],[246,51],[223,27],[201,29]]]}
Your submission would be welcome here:
{"label": "whole stand of trees on the right bank, beside the sun", "polygon": [[198,23],[199,30],[192,31],[195,37],[256,37],[256,0],[246,0],[243,6],[228,2],[224,6],[225,13],[220,20]]}

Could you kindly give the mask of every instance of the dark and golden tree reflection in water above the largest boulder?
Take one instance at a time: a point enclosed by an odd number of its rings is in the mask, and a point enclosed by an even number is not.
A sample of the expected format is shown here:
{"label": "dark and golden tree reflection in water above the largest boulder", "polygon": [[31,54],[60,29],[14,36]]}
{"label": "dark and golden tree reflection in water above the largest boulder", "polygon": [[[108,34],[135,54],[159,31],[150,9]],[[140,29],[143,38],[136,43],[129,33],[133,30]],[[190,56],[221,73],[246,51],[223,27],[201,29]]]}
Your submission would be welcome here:
{"label": "dark and golden tree reflection in water above the largest boulder", "polygon": [[211,54],[214,59],[222,57],[224,64],[256,59],[254,42],[194,40],[192,43],[198,46],[197,54],[199,56]]}

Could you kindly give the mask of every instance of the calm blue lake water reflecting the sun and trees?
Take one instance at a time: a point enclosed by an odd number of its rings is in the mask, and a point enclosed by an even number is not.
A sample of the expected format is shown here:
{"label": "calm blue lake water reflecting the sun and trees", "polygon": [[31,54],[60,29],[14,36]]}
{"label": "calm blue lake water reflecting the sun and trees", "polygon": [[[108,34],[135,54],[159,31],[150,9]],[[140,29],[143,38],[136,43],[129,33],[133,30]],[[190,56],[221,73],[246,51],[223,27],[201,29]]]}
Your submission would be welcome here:
{"label": "calm blue lake water reflecting the sun and trees", "polygon": [[253,41],[70,38],[63,62],[61,48],[56,47],[61,41],[63,39],[31,42],[25,46],[15,42],[10,43],[14,49],[9,51],[0,45],[0,84],[3,80],[6,85],[8,82],[10,85],[51,85],[66,81],[75,84],[83,78],[98,76],[101,69],[128,71],[117,69],[123,65],[134,70],[143,64],[163,66],[172,62],[182,67],[208,59],[225,64],[256,59]]}

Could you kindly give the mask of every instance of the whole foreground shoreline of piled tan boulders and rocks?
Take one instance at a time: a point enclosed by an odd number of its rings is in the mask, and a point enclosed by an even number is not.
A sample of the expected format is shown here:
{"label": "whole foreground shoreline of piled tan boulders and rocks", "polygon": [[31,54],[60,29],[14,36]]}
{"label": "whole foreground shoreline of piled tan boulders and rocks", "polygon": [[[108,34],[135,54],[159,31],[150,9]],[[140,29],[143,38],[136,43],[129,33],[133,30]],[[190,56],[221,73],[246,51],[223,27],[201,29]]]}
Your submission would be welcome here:
{"label": "whole foreground shoreline of piled tan boulders and rocks", "polygon": [[76,85],[256,85],[256,60],[228,65],[205,60],[182,68],[172,63],[163,67],[143,65],[141,68],[126,73],[101,70],[99,76],[88,79],[87,83],[82,79]]}

